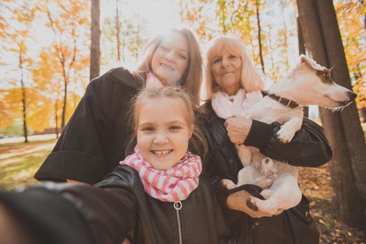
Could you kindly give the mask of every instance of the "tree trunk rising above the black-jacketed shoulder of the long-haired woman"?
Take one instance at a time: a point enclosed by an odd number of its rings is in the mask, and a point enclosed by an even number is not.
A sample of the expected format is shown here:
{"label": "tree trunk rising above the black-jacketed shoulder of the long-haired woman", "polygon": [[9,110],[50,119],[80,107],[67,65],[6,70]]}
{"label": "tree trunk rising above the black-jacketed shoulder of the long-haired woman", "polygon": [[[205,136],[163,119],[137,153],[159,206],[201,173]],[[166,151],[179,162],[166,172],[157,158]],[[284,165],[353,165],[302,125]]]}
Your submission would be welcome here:
{"label": "tree trunk rising above the black-jacketed shoulder of the long-haired woman", "polygon": [[91,0],[90,80],[100,73],[100,1]]}

